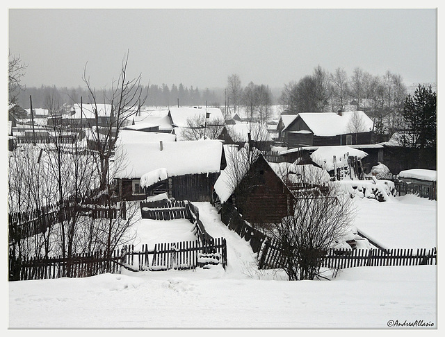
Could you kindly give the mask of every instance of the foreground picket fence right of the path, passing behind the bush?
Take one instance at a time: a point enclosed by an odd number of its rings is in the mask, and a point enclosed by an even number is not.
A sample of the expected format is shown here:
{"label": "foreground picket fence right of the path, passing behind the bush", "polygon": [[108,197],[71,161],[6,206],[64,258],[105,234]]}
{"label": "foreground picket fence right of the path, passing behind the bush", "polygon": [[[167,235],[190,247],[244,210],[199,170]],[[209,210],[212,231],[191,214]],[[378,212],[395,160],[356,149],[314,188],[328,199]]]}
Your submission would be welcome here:
{"label": "foreground picket fence right of the path, passing behind the bush", "polygon": [[[437,264],[437,249],[331,249],[321,255],[321,266],[344,269],[361,266],[419,266]],[[277,241],[268,239],[259,256],[259,269],[281,268],[286,258]]]}

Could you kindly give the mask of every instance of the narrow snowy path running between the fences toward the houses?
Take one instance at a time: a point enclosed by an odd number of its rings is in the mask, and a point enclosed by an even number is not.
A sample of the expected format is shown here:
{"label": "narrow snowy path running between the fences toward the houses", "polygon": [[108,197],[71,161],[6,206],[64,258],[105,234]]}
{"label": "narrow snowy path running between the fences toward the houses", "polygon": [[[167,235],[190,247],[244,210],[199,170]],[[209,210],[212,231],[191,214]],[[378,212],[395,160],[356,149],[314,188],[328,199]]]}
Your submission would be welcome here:
{"label": "narrow snowy path running between the fences toward the houses", "polygon": [[250,243],[236,232],[229,230],[221,222],[218,211],[209,202],[193,202],[200,209],[200,220],[206,231],[214,238],[224,237],[227,242],[227,268],[230,277],[252,277],[258,273],[257,254],[252,251]]}

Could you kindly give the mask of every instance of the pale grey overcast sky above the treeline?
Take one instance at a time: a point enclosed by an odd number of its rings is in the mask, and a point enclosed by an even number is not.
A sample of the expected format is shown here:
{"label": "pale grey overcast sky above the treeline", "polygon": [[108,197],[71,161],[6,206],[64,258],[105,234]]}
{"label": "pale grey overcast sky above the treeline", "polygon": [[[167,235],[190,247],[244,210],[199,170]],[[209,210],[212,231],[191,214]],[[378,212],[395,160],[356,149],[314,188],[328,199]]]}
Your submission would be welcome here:
{"label": "pale grey overcast sky above the treeline", "polygon": [[9,49],[28,87],[109,87],[129,50],[143,83],[225,87],[227,76],[282,87],[318,64],[437,82],[435,9],[11,9]]}

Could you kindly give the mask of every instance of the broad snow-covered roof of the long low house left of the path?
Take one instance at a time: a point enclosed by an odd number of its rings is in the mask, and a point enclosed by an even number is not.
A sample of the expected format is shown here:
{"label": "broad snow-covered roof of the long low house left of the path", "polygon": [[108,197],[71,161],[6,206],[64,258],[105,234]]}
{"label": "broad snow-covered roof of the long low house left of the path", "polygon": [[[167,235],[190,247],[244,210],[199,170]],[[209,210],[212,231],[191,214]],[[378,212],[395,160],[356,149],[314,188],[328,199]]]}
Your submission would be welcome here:
{"label": "broad snow-covered roof of the long low house left of the path", "polygon": [[220,172],[223,141],[163,141],[161,144],[120,144],[115,157],[123,157],[127,167],[116,178],[141,178],[165,168],[168,176]]}

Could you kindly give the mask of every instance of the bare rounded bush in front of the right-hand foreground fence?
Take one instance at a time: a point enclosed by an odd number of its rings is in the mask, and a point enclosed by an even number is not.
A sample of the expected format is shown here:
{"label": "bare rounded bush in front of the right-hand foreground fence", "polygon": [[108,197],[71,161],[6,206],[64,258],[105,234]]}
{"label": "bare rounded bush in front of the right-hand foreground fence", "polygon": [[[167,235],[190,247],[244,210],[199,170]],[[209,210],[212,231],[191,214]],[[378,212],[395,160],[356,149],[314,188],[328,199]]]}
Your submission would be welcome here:
{"label": "bare rounded bush in front of the right-hand foreground fence", "polygon": [[331,184],[324,195],[296,198],[291,214],[268,232],[280,243],[282,268],[289,280],[321,277],[326,251],[344,241],[350,230],[353,204]]}

